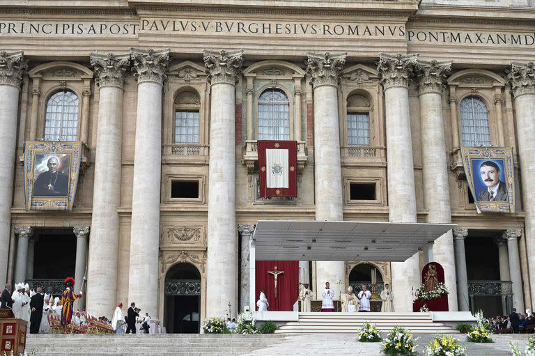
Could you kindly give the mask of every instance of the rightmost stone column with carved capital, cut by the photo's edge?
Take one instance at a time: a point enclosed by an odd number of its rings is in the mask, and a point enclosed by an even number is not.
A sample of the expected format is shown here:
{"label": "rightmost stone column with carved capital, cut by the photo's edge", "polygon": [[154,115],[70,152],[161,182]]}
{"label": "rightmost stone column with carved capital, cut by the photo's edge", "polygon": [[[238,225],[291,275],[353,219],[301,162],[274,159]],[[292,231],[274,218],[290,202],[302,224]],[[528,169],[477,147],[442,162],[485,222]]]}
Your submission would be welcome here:
{"label": "rightmost stone column with carved capital, cut by the photo's edge", "polygon": [[[527,251],[535,251],[535,145],[532,144],[535,137],[535,63],[511,63],[507,79],[515,98],[526,247]],[[527,254],[527,265],[529,286],[532,297],[535,297],[535,254]]]}

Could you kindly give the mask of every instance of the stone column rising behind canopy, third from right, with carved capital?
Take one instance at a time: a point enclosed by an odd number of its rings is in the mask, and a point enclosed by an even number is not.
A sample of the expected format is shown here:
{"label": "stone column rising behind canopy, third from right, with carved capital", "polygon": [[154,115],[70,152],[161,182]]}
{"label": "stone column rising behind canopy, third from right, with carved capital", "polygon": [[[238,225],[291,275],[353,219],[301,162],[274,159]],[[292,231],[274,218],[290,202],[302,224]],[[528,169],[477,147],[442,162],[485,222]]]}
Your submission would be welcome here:
{"label": "stone column rising behind canopy, third from right, with carved capital", "polygon": [[[417,54],[381,54],[378,63],[385,91],[390,222],[417,222],[408,89],[416,60]],[[392,262],[391,270],[394,310],[412,311],[412,291],[421,283],[418,254],[405,262]]]}

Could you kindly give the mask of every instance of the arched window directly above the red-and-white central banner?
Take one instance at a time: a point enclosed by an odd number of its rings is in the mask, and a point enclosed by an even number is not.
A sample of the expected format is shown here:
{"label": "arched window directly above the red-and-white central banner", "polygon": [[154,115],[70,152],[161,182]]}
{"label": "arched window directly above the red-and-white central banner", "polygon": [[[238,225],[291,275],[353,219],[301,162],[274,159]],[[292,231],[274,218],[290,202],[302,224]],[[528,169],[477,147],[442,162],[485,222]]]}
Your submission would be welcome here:
{"label": "arched window directly above the red-and-white central banner", "polygon": [[258,98],[258,139],[290,139],[290,101],[280,89],[266,89]]}

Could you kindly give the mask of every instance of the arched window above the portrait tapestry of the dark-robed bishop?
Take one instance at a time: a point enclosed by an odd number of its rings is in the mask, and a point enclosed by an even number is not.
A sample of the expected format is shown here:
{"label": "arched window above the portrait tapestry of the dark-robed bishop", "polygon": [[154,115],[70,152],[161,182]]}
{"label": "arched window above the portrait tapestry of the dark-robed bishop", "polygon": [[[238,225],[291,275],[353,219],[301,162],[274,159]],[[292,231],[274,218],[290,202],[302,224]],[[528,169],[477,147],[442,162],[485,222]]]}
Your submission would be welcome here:
{"label": "arched window above the portrait tapestry of the dark-robed bishop", "polygon": [[59,91],[47,102],[45,141],[76,141],[78,133],[78,96]]}

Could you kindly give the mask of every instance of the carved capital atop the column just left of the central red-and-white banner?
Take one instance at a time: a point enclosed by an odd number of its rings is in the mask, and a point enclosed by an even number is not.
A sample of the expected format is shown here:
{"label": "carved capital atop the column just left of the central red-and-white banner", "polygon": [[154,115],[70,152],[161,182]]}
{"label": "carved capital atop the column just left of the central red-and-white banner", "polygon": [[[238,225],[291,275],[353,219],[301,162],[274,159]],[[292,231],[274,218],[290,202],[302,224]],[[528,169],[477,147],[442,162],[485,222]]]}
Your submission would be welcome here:
{"label": "carved capital atop the column just left of the central red-and-white banner", "polygon": [[243,51],[221,52],[204,51],[203,61],[212,85],[227,83],[236,85],[242,70]]}

